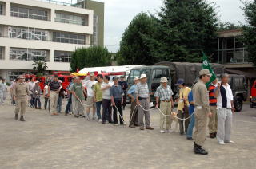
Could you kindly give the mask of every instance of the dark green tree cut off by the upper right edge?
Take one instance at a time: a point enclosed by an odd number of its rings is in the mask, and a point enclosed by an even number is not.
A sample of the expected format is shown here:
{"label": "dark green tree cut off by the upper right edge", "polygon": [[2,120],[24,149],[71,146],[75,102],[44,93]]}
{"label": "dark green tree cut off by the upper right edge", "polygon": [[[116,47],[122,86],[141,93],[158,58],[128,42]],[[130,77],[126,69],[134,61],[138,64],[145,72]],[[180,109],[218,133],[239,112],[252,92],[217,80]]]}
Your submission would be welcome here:
{"label": "dark green tree cut off by the upper right edge", "polygon": [[256,0],[245,2],[243,10],[247,22],[247,25],[243,26],[243,41],[248,51],[248,61],[256,66]]}

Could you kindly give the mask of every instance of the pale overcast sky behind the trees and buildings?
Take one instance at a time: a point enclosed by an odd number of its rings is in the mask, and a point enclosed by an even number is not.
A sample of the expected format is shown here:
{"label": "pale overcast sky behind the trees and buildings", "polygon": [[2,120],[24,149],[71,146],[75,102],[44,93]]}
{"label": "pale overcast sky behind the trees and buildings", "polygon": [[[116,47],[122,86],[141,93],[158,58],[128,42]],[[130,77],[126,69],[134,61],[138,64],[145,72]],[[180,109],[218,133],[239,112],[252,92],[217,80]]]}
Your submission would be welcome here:
{"label": "pale overcast sky behind the trees and buildings", "polygon": [[[70,2],[71,0],[58,0]],[[73,0],[74,1],[74,0]],[[105,41],[110,52],[117,52],[122,33],[130,21],[140,12],[155,14],[162,0],[97,0],[105,3]],[[241,0],[206,0],[214,2],[221,22],[245,23]],[[246,0],[245,0],[246,1]]]}

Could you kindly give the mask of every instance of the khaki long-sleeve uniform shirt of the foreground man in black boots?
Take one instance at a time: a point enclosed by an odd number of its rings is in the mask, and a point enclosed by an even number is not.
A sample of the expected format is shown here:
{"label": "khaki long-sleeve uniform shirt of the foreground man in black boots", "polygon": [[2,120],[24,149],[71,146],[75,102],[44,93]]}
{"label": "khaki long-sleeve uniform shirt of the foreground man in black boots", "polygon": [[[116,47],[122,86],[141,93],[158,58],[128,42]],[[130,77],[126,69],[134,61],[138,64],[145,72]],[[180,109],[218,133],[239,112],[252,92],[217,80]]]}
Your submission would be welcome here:
{"label": "khaki long-sleeve uniform shirt of the foreground man in black boots", "polygon": [[209,94],[206,85],[199,80],[193,88],[194,107],[201,106],[206,109],[206,113],[210,112]]}

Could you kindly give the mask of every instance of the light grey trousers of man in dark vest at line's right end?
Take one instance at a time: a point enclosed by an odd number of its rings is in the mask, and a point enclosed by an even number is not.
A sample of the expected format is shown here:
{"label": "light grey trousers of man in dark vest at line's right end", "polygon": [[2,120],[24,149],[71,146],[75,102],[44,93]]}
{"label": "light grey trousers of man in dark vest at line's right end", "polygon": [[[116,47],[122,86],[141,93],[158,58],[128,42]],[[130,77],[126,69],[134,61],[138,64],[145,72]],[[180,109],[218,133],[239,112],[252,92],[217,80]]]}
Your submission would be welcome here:
{"label": "light grey trousers of man in dark vest at line's right end", "polygon": [[231,128],[232,128],[232,111],[227,108],[219,108],[218,114],[218,141],[230,141]]}

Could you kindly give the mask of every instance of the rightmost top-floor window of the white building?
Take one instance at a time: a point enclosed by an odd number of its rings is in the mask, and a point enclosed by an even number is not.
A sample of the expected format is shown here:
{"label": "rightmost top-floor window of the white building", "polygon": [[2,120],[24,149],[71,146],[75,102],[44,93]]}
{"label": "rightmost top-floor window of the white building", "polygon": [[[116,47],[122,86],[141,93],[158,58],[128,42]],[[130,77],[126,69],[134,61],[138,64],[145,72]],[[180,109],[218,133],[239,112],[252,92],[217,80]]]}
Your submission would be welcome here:
{"label": "rightmost top-floor window of the white building", "polygon": [[88,26],[88,15],[74,15],[74,14],[63,14],[56,13],[55,22],[69,23],[80,26]]}

